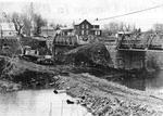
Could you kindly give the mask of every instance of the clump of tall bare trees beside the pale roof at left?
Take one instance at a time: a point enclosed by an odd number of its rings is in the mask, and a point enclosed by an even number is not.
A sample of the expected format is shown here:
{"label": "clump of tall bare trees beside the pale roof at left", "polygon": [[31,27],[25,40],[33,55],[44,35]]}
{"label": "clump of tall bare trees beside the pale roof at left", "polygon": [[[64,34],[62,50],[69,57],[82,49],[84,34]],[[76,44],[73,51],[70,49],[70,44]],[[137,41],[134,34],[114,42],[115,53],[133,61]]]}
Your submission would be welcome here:
{"label": "clump of tall bare trees beside the pale roof at left", "polygon": [[41,33],[41,27],[47,25],[47,20],[37,13],[33,14],[33,17],[22,13],[13,13],[11,22],[14,24],[17,35],[27,36],[30,36],[32,33],[38,36]]}

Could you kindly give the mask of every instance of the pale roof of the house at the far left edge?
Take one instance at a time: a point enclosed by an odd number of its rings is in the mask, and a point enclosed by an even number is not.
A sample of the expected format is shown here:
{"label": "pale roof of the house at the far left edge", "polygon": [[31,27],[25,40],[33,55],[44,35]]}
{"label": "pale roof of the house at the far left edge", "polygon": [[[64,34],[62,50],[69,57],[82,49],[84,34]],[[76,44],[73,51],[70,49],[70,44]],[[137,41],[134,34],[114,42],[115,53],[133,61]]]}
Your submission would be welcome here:
{"label": "pale roof of the house at the far left edge", "polygon": [[16,31],[13,23],[0,23],[0,29]]}

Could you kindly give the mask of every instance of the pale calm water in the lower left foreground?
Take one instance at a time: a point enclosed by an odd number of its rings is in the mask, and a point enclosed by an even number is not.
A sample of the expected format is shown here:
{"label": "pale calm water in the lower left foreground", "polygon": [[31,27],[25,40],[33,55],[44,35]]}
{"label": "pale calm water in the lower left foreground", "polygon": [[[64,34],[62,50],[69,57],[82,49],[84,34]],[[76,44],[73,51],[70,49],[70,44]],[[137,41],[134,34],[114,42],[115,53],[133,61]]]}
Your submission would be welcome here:
{"label": "pale calm water in the lower left foreground", "polygon": [[51,89],[0,94],[0,116],[91,116],[80,105],[66,104],[67,99]]}

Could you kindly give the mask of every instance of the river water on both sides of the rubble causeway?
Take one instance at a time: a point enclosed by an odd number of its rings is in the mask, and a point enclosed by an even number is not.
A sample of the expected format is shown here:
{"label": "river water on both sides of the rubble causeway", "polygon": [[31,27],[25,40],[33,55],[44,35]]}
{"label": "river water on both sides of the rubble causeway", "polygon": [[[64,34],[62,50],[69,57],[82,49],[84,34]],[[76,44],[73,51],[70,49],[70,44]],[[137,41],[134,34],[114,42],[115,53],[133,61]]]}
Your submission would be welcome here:
{"label": "river water on both sides of the rubble causeway", "polygon": [[[123,78],[116,82],[163,99],[163,70],[150,78]],[[0,94],[0,116],[91,116],[80,105],[66,104],[67,99],[71,96],[65,93],[54,94],[52,89]]]}

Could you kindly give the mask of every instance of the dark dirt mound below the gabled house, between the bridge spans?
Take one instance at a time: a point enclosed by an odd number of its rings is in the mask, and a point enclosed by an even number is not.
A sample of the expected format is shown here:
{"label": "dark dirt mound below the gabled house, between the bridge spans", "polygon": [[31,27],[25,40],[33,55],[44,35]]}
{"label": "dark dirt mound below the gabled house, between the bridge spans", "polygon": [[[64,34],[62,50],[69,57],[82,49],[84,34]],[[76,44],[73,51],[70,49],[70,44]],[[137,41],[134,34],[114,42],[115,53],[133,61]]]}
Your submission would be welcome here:
{"label": "dark dirt mound below the gabled house, between the bridge spans", "polygon": [[112,61],[103,43],[91,43],[78,47],[64,53],[64,63],[86,66],[112,66]]}

